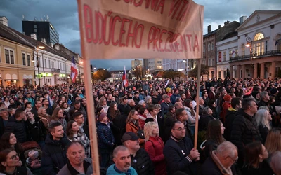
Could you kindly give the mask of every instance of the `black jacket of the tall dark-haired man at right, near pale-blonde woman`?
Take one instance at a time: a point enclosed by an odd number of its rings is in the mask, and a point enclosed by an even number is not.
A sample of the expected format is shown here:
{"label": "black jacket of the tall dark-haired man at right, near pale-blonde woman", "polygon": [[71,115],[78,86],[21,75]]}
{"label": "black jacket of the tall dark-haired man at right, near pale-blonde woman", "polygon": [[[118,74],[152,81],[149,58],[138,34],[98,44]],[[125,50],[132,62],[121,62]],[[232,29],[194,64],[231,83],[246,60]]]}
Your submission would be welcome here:
{"label": "black jacket of the tall dark-haired man at right, near pale-blonde woman", "polygon": [[263,141],[256,124],[256,118],[249,116],[243,109],[237,111],[231,131],[231,142],[238,148],[240,160],[244,160],[244,146],[253,141]]}

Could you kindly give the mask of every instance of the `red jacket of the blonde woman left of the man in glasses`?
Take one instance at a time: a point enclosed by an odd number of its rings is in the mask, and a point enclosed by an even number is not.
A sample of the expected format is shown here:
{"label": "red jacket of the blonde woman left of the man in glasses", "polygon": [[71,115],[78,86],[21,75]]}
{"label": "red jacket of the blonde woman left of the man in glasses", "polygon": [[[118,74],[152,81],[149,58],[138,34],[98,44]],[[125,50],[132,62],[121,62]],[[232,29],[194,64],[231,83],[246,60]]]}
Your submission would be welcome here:
{"label": "red jacket of the blonde woman left of the man in glasses", "polygon": [[155,175],[166,175],[166,160],[163,154],[164,141],[161,137],[150,137],[145,142],[145,151],[148,152],[150,159],[155,167]]}

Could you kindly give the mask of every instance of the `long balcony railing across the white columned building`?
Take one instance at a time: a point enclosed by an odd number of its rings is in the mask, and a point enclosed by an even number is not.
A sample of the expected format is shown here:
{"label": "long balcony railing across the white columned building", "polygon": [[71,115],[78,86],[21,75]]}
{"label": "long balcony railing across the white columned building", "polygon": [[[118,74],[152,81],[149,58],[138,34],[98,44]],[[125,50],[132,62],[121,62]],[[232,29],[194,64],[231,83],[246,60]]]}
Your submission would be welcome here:
{"label": "long balcony railing across the white columned building", "polygon": [[[253,59],[257,58],[262,58],[262,57],[271,57],[271,56],[280,56],[281,55],[281,50],[270,50],[266,52],[259,52],[259,53],[254,53]],[[251,59],[251,55],[244,55],[244,56],[237,56],[237,57],[230,57],[229,62],[240,62],[243,60],[249,60]]]}

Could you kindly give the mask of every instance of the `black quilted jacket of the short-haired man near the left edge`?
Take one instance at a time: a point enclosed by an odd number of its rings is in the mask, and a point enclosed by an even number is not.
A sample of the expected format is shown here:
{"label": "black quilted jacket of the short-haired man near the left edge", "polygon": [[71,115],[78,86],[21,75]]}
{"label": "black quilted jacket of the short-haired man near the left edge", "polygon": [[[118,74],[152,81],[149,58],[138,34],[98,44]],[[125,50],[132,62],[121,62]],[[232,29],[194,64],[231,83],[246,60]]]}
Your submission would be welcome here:
{"label": "black quilted jacket of the short-haired man near the left edge", "polygon": [[24,120],[15,120],[15,116],[8,118],[8,123],[5,127],[5,132],[13,132],[17,141],[22,144],[27,141],[27,132]]}

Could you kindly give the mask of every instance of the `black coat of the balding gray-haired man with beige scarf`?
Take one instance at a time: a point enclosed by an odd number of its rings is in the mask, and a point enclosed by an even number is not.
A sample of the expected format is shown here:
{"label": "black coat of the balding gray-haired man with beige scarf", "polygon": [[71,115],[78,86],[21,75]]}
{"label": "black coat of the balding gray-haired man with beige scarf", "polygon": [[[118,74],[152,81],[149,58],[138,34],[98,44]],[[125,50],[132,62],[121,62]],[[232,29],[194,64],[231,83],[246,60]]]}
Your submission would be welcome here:
{"label": "black coat of the balding gray-haired man with beige scarf", "polygon": [[[236,174],[234,165],[231,166],[231,171],[233,172],[233,175]],[[223,174],[221,173],[220,169],[218,169],[213,158],[209,156],[201,167],[201,175],[223,175]]]}

